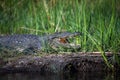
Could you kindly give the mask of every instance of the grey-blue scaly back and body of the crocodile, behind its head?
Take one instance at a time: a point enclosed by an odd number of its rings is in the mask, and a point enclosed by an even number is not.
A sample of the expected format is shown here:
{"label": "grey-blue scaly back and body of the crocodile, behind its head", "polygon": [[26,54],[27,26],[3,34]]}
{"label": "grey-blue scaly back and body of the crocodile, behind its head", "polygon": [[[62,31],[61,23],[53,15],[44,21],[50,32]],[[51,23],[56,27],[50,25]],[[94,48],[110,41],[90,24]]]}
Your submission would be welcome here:
{"label": "grey-blue scaly back and body of the crocodile, behind its head", "polygon": [[32,34],[9,35],[0,37],[0,48],[7,47],[23,51],[25,49],[41,49],[40,37]]}

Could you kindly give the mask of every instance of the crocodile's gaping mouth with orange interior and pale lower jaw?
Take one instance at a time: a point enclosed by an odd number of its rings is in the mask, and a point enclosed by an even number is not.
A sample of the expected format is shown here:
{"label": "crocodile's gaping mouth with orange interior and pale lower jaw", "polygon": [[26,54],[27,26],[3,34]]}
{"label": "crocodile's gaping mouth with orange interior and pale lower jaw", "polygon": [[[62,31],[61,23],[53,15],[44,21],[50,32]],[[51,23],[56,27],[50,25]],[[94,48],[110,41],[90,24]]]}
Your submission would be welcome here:
{"label": "crocodile's gaping mouth with orange interior and pale lower jaw", "polygon": [[78,50],[80,49],[80,45],[77,44],[76,40],[77,35],[71,35],[71,36],[65,36],[65,37],[59,37],[54,38],[51,42],[51,47],[54,50],[66,50],[66,49],[72,49],[72,50]]}

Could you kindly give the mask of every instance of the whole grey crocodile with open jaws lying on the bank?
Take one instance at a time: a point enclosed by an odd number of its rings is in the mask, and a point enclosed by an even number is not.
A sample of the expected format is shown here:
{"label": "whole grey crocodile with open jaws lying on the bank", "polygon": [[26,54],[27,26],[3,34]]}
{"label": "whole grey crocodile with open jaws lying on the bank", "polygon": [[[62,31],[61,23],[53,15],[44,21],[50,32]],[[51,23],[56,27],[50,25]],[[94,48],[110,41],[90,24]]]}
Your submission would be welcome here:
{"label": "whole grey crocodile with open jaws lying on the bank", "polygon": [[14,34],[0,36],[0,51],[15,50],[19,52],[35,52],[44,49],[52,48],[58,50],[62,48],[80,48],[80,45],[72,44],[69,38],[79,36],[79,32],[59,32],[49,35],[34,35],[34,34]]}

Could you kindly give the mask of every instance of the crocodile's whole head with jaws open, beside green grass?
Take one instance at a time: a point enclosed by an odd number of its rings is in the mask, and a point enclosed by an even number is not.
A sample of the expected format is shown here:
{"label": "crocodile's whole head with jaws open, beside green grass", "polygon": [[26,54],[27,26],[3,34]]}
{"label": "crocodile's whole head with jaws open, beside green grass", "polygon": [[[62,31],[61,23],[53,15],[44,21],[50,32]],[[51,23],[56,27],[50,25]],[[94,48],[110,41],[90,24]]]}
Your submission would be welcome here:
{"label": "crocodile's whole head with jaws open, beside green grass", "polygon": [[61,32],[49,36],[50,47],[54,50],[80,49],[75,43],[75,37],[81,35],[79,32]]}

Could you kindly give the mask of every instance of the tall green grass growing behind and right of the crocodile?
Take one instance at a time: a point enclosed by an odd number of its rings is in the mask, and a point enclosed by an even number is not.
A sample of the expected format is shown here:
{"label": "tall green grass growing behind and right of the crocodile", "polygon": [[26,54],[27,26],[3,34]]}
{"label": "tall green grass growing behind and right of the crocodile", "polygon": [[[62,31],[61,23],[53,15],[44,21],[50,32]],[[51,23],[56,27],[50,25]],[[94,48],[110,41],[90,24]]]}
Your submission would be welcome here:
{"label": "tall green grass growing behind and right of the crocodile", "polygon": [[120,51],[119,0],[1,0],[0,34],[81,32],[80,51]]}

